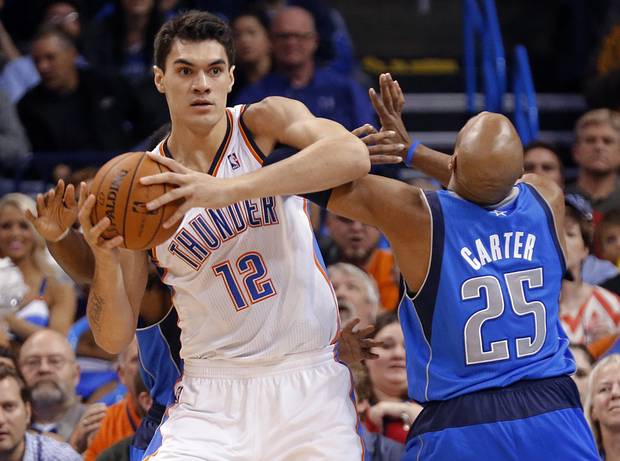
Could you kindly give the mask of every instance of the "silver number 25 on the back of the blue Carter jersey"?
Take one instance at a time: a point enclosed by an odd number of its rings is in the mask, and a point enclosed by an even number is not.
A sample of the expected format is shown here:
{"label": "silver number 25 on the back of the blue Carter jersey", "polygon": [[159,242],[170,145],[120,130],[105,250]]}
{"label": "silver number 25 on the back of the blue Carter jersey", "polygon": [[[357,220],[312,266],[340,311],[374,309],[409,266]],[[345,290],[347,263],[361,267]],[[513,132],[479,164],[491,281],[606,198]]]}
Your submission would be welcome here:
{"label": "silver number 25 on the back of the blue Carter jersey", "polygon": [[[527,301],[525,299],[524,284],[527,284],[528,288],[542,287],[542,268],[504,274],[504,282],[508,288],[510,304],[514,313],[519,316],[534,316],[533,337],[525,336],[516,339],[517,358],[536,354],[543,347],[547,336],[547,308],[540,301]],[[486,294],[486,307],[467,319],[463,331],[467,365],[496,362],[510,358],[507,339],[491,342],[489,350],[484,350],[482,342],[482,326],[484,323],[497,319],[504,313],[505,302],[500,281],[492,275],[466,280],[461,285],[461,299],[467,301],[481,298],[483,289]]]}

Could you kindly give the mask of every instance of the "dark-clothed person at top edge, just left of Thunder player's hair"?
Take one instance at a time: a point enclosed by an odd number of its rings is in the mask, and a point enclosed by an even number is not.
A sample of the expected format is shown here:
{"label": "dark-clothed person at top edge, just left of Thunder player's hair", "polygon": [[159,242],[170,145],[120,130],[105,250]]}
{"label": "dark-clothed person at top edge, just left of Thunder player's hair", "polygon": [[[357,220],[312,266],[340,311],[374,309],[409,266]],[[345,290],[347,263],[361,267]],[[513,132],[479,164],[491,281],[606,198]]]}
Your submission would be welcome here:
{"label": "dark-clothed person at top edge, just left of Thunder player's hair", "polygon": [[88,62],[130,80],[151,75],[153,40],[161,23],[155,0],[115,0],[113,12],[86,31]]}

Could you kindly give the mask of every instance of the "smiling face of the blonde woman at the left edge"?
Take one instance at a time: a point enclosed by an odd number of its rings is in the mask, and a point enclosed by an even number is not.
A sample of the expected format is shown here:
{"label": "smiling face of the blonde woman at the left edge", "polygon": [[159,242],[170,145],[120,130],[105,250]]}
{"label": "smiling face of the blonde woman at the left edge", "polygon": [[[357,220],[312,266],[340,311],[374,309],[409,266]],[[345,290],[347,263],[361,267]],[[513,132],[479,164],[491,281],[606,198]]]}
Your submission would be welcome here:
{"label": "smiling face of the blonde woman at the left edge", "polygon": [[34,250],[32,227],[22,211],[6,205],[0,209],[0,254],[18,262]]}

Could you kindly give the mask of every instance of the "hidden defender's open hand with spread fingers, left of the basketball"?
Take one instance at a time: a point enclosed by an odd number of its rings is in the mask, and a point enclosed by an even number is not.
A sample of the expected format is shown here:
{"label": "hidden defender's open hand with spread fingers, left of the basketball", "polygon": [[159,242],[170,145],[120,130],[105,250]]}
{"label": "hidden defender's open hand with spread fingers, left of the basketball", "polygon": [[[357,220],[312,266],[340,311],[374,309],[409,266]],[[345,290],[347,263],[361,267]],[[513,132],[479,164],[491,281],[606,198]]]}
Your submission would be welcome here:
{"label": "hidden defender's open hand with spread fingers, left of the basketball", "polygon": [[37,194],[37,216],[26,210],[26,218],[41,236],[49,242],[58,242],[77,219],[78,204],[73,184],[65,187],[60,179],[54,189]]}

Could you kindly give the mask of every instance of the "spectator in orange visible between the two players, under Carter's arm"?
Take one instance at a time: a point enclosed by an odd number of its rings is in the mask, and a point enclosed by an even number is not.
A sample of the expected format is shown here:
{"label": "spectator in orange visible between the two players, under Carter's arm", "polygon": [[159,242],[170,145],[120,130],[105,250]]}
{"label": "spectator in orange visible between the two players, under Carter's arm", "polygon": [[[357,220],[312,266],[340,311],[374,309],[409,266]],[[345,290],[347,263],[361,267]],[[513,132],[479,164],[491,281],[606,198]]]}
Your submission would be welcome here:
{"label": "spectator in orange visible between the two players, under Carter's arm", "polygon": [[327,214],[326,228],[329,239],[321,242],[325,263],[345,262],[365,270],[377,283],[383,308],[395,309],[399,290],[394,255],[378,247],[381,233],[372,226],[332,213]]}

